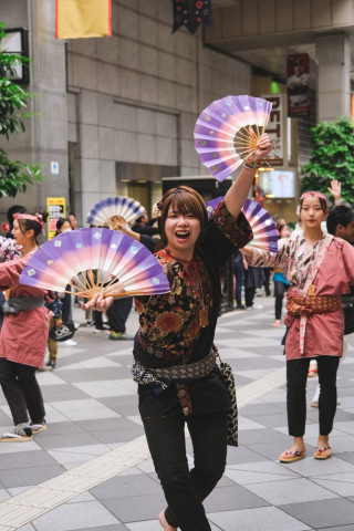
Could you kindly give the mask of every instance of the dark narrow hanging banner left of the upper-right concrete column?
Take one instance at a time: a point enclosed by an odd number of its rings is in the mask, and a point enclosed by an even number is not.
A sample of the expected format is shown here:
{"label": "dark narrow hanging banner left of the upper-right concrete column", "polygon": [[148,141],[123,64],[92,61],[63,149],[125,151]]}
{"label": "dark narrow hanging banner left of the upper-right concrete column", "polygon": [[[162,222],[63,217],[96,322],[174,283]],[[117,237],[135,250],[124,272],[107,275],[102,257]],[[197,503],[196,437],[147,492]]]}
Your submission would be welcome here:
{"label": "dark narrow hanging banner left of the upper-right concrete column", "polygon": [[310,56],[288,55],[288,116],[310,113]]}

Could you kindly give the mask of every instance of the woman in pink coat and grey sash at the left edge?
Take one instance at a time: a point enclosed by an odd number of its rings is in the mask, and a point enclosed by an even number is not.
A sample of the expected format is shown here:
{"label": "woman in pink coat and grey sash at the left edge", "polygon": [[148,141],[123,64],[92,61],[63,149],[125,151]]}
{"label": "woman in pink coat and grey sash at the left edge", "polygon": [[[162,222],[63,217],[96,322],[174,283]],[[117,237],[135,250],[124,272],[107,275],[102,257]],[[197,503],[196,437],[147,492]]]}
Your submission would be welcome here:
{"label": "woman in pink coat and grey sash at the left edge", "polygon": [[0,263],[0,291],[7,291],[4,320],[0,332],[0,384],[9,404],[14,428],[0,441],[31,440],[45,429],[45,410],[35,371],[43,365],[49,312],[46,291],[19,283],[28,259],[38,248],[37,237],[45,215],[15,214],[13,237],[22,246],[22,258]]}

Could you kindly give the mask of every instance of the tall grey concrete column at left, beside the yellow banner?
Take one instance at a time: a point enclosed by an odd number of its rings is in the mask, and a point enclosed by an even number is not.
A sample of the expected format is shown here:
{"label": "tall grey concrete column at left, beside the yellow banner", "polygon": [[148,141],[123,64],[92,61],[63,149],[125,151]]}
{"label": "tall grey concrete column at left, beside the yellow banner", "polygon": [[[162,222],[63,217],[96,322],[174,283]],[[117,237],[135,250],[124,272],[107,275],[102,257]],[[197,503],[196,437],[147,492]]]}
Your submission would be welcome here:
{"label": "tall grey concrete column at left, beside the yellow banner", "polygon": [[[46,0],[29,1],[31,92],[38,94],[32,119],[32,159],[42,164],[44,181],[37,187],[35,207],[48,196],[69,199],[65,42],[54,35],[55,10]],[[51,174],[59,163],[59,175]],[[69,207],[69,205],[67,205]]]}

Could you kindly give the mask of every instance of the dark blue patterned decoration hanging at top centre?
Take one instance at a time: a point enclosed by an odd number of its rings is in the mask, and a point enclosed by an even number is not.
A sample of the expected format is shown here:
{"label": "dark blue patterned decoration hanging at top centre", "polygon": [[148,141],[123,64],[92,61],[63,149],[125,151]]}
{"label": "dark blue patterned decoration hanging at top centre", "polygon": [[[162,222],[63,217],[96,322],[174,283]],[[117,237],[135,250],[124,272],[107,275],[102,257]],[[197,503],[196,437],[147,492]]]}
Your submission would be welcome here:
{"label": "dark blue patterned decoration hanging at top centre", "polygon": [[174,29],[173,33],[185,25],[194,34],[199,24],[214,27],[211,19],[211,0],[173,0]]}

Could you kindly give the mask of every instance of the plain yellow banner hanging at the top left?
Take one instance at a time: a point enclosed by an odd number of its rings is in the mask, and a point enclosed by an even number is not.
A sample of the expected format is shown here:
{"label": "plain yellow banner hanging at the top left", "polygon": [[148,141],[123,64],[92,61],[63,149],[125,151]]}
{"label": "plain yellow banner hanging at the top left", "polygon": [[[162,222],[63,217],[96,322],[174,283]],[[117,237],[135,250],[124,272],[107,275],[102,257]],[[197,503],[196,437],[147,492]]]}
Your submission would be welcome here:
{"label": "plain yellow banner hanging at the top left", "polygon": [[56,0],[55,38],[112,34],[112,0]]}

